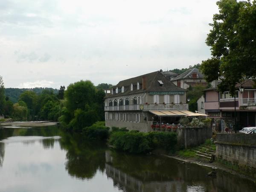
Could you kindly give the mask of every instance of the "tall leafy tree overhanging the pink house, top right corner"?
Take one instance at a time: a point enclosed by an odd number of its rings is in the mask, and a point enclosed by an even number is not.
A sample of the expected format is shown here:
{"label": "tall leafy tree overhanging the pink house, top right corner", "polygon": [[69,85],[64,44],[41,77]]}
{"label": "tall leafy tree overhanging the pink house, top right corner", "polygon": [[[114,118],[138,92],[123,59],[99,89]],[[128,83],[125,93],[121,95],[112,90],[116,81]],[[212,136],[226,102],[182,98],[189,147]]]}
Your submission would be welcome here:
{"label": "tall leafy tree overhanging the pink house, top right corner", "polygon": [[217,5],[206,39],[212,58],[201,70],[209,82],[222,79],[219,90],[234,94],[237,83],[256,77],[256,1],[219,0]]}

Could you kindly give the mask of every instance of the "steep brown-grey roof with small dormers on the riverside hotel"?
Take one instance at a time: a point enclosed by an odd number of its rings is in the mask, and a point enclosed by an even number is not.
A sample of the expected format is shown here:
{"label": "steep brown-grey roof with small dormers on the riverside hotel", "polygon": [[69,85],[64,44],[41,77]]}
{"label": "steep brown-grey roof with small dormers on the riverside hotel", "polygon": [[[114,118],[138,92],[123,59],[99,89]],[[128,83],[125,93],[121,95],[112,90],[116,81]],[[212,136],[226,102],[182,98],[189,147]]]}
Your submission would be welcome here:
{"label": "steep brown-grey roof with small dormers on the riverside hotel", "polygon": [[[142,79],[143,77],[146,78],[146,89],[143,90],[142,88]],[[163,87],[160,87],[158,80],[163,81]],[[140,89],[137,90],[137,82],[140,84]],[[133,90],[131,91],[130,86],[133,84]],[[121,93],[122,86],[125,87],[124,93]],[[115,93],[115,89],[118,87],[118,93]],[[129,95],[134,93],[143,93],[143,92],[150,92],[150,91],[186,91],[183,88],[177,87],[168,78],[166,78],[160,71],[155,71],[152,73],[148,73],[145,75],[133,77],[131,79],[125,79],[119,81],[119,83],[113,87],[113,95],[108,94],[105,98],[108,97],[115,97],[115,96],[122,96],[122,95]]]}

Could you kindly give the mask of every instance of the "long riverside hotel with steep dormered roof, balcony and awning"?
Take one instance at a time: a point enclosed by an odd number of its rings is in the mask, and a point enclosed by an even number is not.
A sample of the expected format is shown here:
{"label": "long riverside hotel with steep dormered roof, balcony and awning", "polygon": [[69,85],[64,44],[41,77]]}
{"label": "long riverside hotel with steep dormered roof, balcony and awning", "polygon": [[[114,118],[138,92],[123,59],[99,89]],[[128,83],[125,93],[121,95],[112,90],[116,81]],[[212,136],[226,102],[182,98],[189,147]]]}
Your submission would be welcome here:
{"label": "long riverside hotel with steep dormered roof, balcony and awning", "polygon": [[105,124],[130,130],[151,131],[153,122],[178,123],[190,115],[186,90],[160,71],[119,81],[105,96]]}

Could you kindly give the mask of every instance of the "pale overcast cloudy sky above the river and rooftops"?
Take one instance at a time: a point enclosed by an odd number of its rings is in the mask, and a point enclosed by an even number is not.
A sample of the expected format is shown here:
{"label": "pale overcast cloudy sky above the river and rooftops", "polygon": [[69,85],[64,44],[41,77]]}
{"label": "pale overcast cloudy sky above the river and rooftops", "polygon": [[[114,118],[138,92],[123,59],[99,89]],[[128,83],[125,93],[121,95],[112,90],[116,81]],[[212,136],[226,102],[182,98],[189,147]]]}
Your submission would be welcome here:
{"label": "pale overcast cloudy sky above the river and rooftops", "polygon": [[216,0],[0,0],[5,87],[117,84],[210,57]]}

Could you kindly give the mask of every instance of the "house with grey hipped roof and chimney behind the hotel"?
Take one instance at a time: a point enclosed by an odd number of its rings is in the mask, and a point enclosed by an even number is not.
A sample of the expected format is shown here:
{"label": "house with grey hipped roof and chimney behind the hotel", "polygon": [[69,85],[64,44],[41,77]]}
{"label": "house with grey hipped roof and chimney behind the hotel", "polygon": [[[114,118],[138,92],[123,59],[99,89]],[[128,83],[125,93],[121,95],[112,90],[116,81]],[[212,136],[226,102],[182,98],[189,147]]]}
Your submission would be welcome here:
{"label": "house with grey hipped roof and chimney behind the hotel", "polygon": [[194,87],[198,84],[207,87],[208,83],[204,79],[204,75],[197,68],[192,68],[180,74],[171,80],[177,87],[187,89],[189,86]]}

